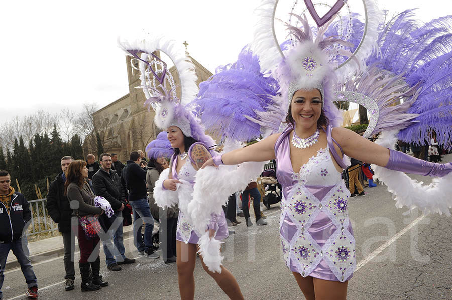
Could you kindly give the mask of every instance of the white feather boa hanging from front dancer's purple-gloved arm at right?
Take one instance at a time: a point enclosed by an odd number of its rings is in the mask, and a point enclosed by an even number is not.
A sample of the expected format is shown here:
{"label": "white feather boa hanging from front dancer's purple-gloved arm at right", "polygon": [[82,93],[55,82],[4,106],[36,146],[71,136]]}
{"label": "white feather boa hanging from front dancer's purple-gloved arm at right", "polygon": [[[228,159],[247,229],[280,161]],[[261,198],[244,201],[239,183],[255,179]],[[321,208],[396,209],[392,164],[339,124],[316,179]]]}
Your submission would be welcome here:
{"label": "white feather boa hanging from front dancer's purple-gloved arm at right", "polygon": [[[397,133],[398,131],[383,132],[376,143],[394,149]],[[452,173],[442,178],[434,178],[432,183],[424,185],[423,182],[411,179],[402,172],[388,170],[377,165],[372,165],[372,169],[375,172],[374,177],[387,185],[388,191],[394,195],[396,207],[419,208],[424,213],[444,213],[450,216]]]}

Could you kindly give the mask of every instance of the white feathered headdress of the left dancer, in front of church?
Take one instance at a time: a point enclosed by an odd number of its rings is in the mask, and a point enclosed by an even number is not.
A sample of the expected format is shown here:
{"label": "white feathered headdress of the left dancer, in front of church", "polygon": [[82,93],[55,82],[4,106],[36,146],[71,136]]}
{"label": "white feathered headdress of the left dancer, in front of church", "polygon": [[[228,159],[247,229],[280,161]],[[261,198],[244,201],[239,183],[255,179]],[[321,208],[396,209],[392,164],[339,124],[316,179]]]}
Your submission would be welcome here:
{"label": "white feathered headdress of the left dancer, in front of church", "polygon": [[[144,105],[155,110],[154,121],[162,130],[177,126],[187,137],[203,142],[208,147],[216,143],[205,134],[204,127],[187,110],[198,92],[195,67],[190,58],[179,55],[173,41],[163,39],[142,39],[135,42],[119,42],[120,47],[134,59],[139,61],[140,88],[146,101]],[[176,95],[176,84],[167,64],[157,55],[165,53],[175,66],[180,80],[181,97]]]}

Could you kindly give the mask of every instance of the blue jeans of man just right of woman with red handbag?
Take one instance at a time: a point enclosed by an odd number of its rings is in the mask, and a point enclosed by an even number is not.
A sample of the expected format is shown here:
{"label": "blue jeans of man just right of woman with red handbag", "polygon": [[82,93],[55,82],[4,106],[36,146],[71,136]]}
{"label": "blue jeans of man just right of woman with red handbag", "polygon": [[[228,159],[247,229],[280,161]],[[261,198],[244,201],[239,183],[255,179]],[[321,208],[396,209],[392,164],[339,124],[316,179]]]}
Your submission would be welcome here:
{"label": "blue jeans of man just right of woman with red handbag", "polygon": [[[126,258],[126,256],[124,255],[125,249],[123,238],[123,212],[115,212],[115,215],[110,218],[110,221],[112,222],[112,225],[107,234],[110,237],[112,236],[113,242],[111,242],[111,238],[102,241],[103,252],[105,253],[105,262],[107,266],[116,263],[114,256],[117,257],[118,261],[124,261],[124,258]],[[117,229],[115,230],[115,228]]]}

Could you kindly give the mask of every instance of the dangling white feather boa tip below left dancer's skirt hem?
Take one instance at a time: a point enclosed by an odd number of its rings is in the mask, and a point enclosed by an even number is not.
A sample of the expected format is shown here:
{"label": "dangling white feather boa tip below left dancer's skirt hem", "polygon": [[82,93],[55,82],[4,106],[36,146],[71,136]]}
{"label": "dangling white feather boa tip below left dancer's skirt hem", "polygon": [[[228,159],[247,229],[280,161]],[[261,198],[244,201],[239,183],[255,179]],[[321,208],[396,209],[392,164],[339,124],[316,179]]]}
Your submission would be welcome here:
{"label": "dangling white feather boa tip below left dancer's skirt hem", "polygon": [[202,260],[211,272],[221,273],[223,256],[221,256],[220,248],[222,243],[214,238],[210,239],[208,231],[199,238],[198,253],[202,256]]}

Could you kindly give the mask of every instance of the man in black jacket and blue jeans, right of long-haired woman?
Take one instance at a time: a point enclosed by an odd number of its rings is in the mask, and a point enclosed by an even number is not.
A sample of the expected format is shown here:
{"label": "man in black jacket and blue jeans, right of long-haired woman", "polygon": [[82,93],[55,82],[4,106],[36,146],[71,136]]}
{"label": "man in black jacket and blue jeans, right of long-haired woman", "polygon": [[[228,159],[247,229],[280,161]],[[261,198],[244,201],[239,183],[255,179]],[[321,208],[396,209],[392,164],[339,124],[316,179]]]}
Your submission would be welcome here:
{"label": "man in black jacket and blue jeans, right of long-haired woman", "polygon": [[[123,244],[123,210],[126,205],[121,202],[121,180],[115,170],[111,169],[111,155],[109,153],[102,153],[99,157],[100,169],[92,176],[92,185],[96,196],[104,197],[110,202],[111,208],[115,211],[115,215],[111,218],[104,214],[99,217],[102,218],[105,229],[108,230],[108,235],[111,238],[102,240],[103,251],[105,253],[105,260],[107,268],[111,271],[120,271],[121,267],[118,264],[134,263],[135,259],[129,259],[124,255],[125,249]],[[112,232],[110,232],[112,231]],[[113,246],[113,244],[115,246]],[[114,252],[117,257],[115,260]]]}

